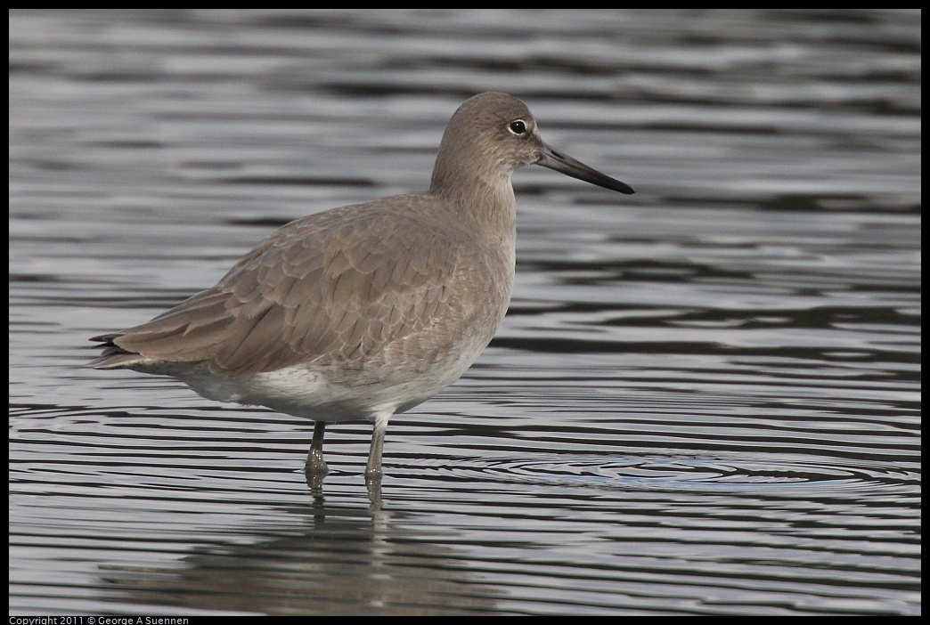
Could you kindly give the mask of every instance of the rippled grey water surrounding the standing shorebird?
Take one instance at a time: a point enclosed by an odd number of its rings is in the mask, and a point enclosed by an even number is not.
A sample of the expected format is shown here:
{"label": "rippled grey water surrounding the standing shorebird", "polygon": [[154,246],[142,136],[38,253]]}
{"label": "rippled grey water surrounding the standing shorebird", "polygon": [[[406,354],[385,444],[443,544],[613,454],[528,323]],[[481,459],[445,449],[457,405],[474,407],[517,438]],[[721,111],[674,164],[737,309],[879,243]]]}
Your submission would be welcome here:
{"label": "rippled grey water surrounding the standing shorebird", "polygon": [[[921,613],[921,14],[10,12],[11,614]],[[291,219],[420,193],[506,90],[479,361],[312,424],[82,368]]]}

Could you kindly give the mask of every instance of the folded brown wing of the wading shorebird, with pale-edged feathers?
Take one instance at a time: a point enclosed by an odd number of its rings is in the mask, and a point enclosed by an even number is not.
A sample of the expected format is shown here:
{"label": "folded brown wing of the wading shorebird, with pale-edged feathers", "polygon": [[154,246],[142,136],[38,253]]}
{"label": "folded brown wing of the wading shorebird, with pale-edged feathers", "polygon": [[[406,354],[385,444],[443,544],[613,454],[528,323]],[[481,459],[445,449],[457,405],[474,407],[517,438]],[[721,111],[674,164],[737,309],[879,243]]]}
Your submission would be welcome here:
{"label": "folded brown wing of the wading shorebird, with pale-edged feathers", "polygon": [[433,347],[453,344],[440,326],[467,326],[477,308],[455,295],[465,282],[481,288],[486,273],[471,271],[461,236],[410,214],[428,198],[389,199],[398,207],[391,219],[384,206],[354,205],[287,224],[216,286],[98,338],[111,349],[92,365],[206,361],[248,378],[298,363],[362,362],[418,333]]}

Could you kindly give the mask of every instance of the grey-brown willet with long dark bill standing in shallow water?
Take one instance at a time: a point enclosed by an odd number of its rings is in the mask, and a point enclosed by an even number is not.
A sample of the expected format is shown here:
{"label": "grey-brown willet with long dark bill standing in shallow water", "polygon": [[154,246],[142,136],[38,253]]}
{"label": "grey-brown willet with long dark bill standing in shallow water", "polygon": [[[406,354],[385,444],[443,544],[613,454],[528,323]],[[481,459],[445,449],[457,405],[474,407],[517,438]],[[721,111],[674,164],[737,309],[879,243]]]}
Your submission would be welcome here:
{"label": "grey-brown willet with long dark bill standing in shallow water", "polygon": [[365,475],[377,481],[388,420],[458,379],[507,312],[511,175],[531,164],[633,193],[544,143],[521,100],[483,93],[452,115],[427,194],[288,223],[218,285],[92,339],[103,353],[89,366],[171,376],[209,399],[312,419],[306,470],[320,478],[326,423],[373,421]]}

